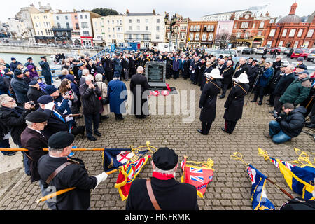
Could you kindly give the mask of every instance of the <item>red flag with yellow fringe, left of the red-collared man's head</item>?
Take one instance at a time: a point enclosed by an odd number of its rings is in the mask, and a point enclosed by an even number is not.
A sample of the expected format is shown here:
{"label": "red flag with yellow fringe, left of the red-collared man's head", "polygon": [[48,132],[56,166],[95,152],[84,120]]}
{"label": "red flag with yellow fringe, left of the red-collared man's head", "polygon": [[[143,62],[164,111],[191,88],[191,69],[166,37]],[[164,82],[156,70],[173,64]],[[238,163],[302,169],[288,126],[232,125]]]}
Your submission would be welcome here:
{"label": "red flag with yellow fringe, left of the red-collared man's head", "polygon": [[144,158],[139,158],[136,161],[130,160],[130,162],[121,167],[115,185],[115,188],[118,188],[121,200],[124,201],[128,198],[132,181],[136,179],[136,176],[141,172],[149,158],[151,158],[151,155],[146,155]]}

